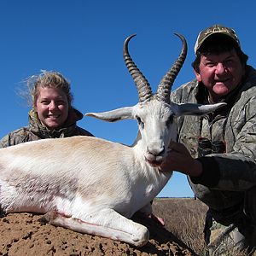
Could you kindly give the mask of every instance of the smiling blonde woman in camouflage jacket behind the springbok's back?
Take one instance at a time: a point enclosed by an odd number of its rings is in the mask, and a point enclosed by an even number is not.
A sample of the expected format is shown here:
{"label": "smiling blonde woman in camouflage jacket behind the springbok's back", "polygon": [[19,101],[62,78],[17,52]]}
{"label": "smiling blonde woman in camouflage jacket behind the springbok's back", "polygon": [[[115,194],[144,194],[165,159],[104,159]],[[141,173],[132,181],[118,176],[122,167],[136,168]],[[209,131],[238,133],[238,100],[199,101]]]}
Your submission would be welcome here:
{"label": "smiling blonde woman in camouflage jacket behind the springbok's back", "polygon": [[93,136],[76,125],[83,114],[72,107],[70,84],[61,73],[43,72],[27,82],[32,96],[29,125],[10,132],[0,141],[0,148],[44,138]]}

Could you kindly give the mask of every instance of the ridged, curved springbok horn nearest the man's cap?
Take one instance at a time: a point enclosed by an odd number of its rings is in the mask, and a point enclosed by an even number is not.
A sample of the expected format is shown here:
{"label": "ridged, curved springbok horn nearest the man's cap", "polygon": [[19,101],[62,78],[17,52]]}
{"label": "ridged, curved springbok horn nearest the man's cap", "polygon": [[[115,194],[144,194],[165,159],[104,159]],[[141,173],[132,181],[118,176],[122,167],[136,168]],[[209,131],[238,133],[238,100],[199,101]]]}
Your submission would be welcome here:
{"label": "ridged, curved springbok horn nearest the man's cap", "polygon": [[187,51],[188,51],[188,45],[187,45],[186,39],[180,34],[175,33],[175,35],[182,40],[183,49],[180,55],[177,57],[177,60],[175,61],[175,63],[168,70],[168,72],[163,77],[163,79],[161,79],[160,84],[158,85],[157,92],[155,94],[156,98],[159,101],[164,101],[167,103],[170,103],[172,84],[174,83],[174,80],[176,79],[177,74],[179,73],[181,67],[183,67],[183,63],[186,59]]}

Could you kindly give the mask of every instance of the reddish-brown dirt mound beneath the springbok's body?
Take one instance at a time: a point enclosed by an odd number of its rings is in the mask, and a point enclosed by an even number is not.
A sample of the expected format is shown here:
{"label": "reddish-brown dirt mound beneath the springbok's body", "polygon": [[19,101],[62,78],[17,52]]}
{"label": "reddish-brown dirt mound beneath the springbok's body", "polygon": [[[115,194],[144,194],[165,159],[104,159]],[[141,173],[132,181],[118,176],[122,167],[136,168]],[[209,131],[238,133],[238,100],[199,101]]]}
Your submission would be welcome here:
{"label": "reddish-brown dirt mound beneath the springbok's body", "polygon": [[152,219],[133,218],[146,225],[150,232],[148,244],[137,248],[45,224],[38,221],[41,217],[25,212],[0,218],[0,255],[195,255]]}

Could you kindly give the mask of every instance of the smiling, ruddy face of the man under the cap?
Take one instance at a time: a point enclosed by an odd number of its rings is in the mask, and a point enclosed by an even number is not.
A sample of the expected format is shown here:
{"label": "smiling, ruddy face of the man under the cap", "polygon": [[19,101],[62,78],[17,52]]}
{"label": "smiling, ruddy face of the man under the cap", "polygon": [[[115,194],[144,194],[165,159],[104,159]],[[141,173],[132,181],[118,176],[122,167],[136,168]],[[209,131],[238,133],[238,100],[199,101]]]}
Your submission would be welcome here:
{"label": "smiling, ruddy face of the man under the cap", "polygon": [[218,55],[201,55],[199,70],[195,72],[196,79],[207,87],[212,102],[234,90],[245,72],[235,49]]}

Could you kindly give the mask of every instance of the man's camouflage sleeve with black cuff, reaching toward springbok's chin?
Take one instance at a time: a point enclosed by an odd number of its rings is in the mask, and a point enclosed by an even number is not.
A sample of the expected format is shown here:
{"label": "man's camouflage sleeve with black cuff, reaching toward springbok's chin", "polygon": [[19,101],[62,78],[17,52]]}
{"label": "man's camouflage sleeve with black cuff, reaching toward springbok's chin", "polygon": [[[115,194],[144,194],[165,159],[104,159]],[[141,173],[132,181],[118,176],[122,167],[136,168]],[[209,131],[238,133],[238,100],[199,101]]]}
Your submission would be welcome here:
{"label": "man's camouflage sleeve with black cuff, reaching toward springbok's chin", "polygon": [[[204,172],[201,177],[191,178],[193,183],[230,191],[245,191],[255,186],[256,98],[245,101],[246,97],[241,98],[227,124],[226,129],[231,131],[227,139],[235,140],[233,148],[226,154],[210,154],[201,159]],[[218,179],[212,179],[214,172]]]}

